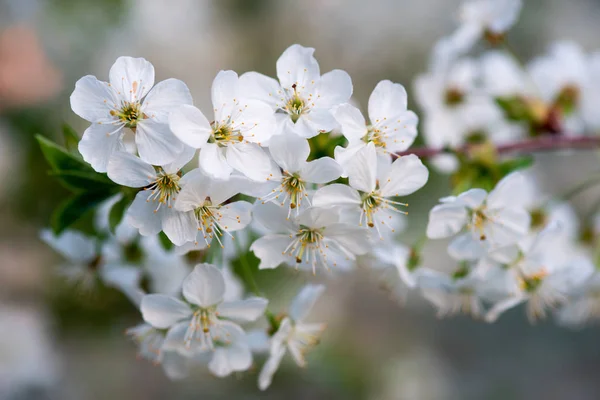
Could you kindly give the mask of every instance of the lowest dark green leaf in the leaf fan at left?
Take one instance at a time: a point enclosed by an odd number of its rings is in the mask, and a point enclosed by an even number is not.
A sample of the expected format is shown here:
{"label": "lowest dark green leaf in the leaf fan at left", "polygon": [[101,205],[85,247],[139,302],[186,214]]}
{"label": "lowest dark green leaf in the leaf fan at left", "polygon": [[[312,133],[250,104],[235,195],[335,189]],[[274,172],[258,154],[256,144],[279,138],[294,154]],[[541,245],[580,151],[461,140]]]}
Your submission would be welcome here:
{"label": "lowest dark green leaf in the leaf fan at left", "polygon": [[112,195],[113,193],[110,191],[85,192],[73,195],[54,210],[50,219],[52,230],[56,235],[60,235],[65,229]]}

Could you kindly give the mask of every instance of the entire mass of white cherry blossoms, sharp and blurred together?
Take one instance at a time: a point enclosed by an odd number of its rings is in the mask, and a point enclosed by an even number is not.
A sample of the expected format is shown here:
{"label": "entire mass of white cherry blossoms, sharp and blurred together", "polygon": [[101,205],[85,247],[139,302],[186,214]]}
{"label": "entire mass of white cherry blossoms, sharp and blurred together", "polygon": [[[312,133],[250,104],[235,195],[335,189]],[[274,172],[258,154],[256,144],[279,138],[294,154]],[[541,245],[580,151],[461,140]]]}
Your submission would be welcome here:
{"label": "entire mass of white cherry blossoms, sharp and blurred together", "polygon": [[[101,281],[139,308],[144,322],[128,334],[172,379],[196,365],[224,377],[268,353],[258,378],[266,389],[286,353],[306,364],[325,329],[306,319],[325,286],[305,286],[275,313],[248,252],[258,270],[335,276],[367,265],[397,297],[414,290],[440,316],[494,322],[526,302],[531,320],[549,308],[565,324],[600,317],[597,230],[580,227],[568,203],[548,199],[530,171],[516,170],[521,162],[501,160],[494,147],[600,128],[600,58],[562,42],[520,64],[503,47],[520,8],[518,0],[465,3],[461,26],[415,81],[423,140],[441,149],[432,165],[453,173],[453,195],[433,207],[412,245],[397,238],[408,214],[402,197],[429,171],[410,154],[419,119],[405,88],[379,82],[363,114],[350,76],[321,74],[314,49],[300,45],[277,60],[277,79],[220,71],[210,110],[194,106],[180,80],[155,84],[143,58],[117,59],[108,82],[81,78],[71,107],[90,125],[78,151],[119,193],[97,208],[95,236],[41,237],[70,261],[63,275],[88,288]],[[494,48],[467,58],[485,41]],[[427,259],[428,239],[449,240],[448,265]]]}

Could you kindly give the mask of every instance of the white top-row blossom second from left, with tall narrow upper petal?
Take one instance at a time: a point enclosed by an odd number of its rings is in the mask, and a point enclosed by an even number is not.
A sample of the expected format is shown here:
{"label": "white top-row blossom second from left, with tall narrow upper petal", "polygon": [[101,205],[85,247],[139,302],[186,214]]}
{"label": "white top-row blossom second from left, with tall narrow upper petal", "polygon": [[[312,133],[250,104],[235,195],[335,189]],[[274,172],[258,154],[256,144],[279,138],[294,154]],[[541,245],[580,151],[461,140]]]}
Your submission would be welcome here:
{"label": "white top-row blossom second from left, with tall narrow upper petal", "polygon": [[238,76],[220,71],[212,84],[214,119],[209,121],[192,105],[169,117],[173,133],[200,151],[200,168],[215,179],[228,179],[236,170],[255,181],[272,172],[269,156],[261,148],[273,134],[273,112],[266,104],[242,98]]}

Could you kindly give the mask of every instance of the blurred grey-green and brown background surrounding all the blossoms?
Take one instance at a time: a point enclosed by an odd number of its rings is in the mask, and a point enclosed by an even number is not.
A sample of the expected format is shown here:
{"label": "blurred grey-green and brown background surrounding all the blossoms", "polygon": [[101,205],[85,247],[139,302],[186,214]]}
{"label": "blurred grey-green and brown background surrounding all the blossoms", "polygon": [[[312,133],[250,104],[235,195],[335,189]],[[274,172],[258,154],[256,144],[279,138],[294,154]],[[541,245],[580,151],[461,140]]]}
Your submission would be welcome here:
{"label": "blurred grey-green and brown background surrounding all the blossoms", "polygon": [[[184,80],[205,108],[219,70],[274,76],[277,57],[300,43],[316,48],[321,71],[350,73],[362,106],[382,79],[404,84],[410,99],[428,52],[453,29],[458,4],[0,0],[0,399],[7,388],[11,400],[600,398],[596,327],[531,326],[521,309],[491,326],[466,317],[438,320],[418,296],[400,307],[366,270],[327,282],[314,320],[327,321],[328,329],[309,368],[284,363],[266,393],[256,388],[260,358],[240,376],[217,379],[201,369],[173,383],[136,360],[123,334],[140,320],[135,308],[114,291],[73,291],[56,278],[60,260],[38,239],[66,191],[47,175],[34,134],[61,142],[65,122],[83,132],[86,122],[69,107],[81,76],[105,80],[118,56],[145,57],[157,82]],[[557,39],[596,50],[599,20],[598,0],[530,0],[509,39],[525,59]],[[550,192],[597,165],[591,152],[537,161]],[[409,199],[408,239],[423,233],[427,211],[448,187],[434,174]],[[578,197],[575,206],[584,208],[594,195]],[[446,258],[441,245],[428,251],[432,263]],[[289,299],[285,285],[292,291],[303,280],[277,282],[278,293]]]}

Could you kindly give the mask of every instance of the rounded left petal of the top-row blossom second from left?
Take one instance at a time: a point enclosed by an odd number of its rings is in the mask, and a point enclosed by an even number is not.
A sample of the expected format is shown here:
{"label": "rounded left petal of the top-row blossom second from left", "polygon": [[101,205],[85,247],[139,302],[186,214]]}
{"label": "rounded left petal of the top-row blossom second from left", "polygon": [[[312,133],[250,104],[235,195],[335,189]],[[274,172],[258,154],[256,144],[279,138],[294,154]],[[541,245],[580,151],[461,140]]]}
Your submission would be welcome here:
{"label": "rounded left petal of the top-row blossom second from left", "polygon": [[169,127],[179,140],[196,149],[206,144],[213,131],[202,111],[191,105],[173,110],[169,115]]}

